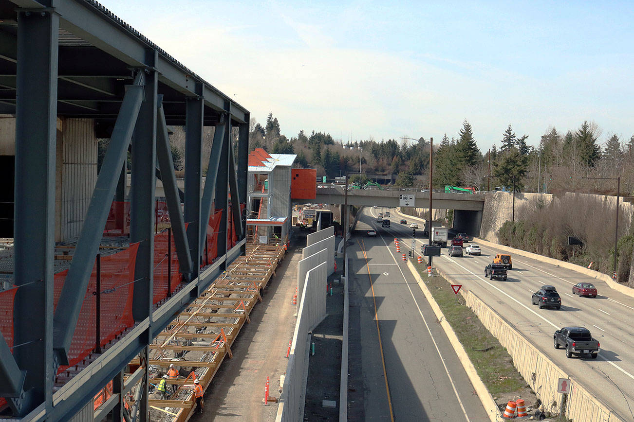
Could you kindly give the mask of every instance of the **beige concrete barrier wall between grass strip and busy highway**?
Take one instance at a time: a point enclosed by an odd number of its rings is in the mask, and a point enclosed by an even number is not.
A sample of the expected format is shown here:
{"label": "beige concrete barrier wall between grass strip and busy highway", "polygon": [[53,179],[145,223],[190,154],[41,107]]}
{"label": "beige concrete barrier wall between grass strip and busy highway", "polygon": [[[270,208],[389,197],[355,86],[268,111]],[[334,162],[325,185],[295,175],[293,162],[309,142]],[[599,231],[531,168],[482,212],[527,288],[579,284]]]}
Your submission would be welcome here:
{"label": "beige concrete barrier wall between grass strip and busy highway", "polygon": [[559,406],[561,399],[561,394],[557,392],[559,378],[570,378],[573,387],[567,399],[567,418],[575,422],[624,420],[611,413],[604,403],[593,397],[579,380],[559,369],[553,361],[534,347],[477,295],[471,291],[467,292],[466,301],[467,306],[474,311],[487,330],[507,349],[508,354],[513,358],[515,368],[524,380],[527,380],[548,411],[555,410],[551,407],[553,401]]}

